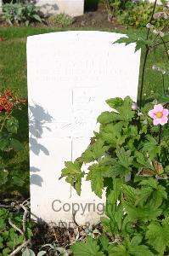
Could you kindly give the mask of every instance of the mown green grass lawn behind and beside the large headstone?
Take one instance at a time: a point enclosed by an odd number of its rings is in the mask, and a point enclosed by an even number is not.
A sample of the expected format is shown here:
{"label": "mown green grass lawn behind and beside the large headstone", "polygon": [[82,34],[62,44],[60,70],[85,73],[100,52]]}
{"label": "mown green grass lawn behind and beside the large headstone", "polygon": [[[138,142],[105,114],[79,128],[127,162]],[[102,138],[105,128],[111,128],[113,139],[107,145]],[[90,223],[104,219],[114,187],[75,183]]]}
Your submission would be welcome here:
{"label": "mown green grass lawn behind and beside the large headstone", "polygon": [[[83,30],[96,30],[94,28],[83,28]],[[26,86],[26,37],[46,32],[59,32],[66,29],[57,28],[37,28],[37,27],[8,27],[0,29],[0,38],[6,38],[6,41],[0,42],[0,88],[10,88],[18,90],[20,96],[27,97]],[[110,31],[104,29],[104,31]],[[116,32],[116,31],[114,31]],[[125,32],[125,31],[123,31]],[[130,30],[129,32],[133,32]],[[137,30],[139,34],[144,31]],[[145,72],[144,93],[150,95],[153,91],[162,93],[161,74],[152,70],[152,65],[164,63],[164,49],[159,47],[155,53],[149,55]],[[143,67],[144,53],[141,58],[140,73]],[[132,73],[132,71],[131,71]],[[166,79],[166,78],[165,78]],[[140,82],[140,81],[139,81]],[[169,81],[166,80],[166,84]],[[168,84],[169,85],[169,84]],[[139,88],[138,88],[139,91]],[[29,180],[29,154],[28,154],[28,118],[27,108],[15,113],[20,120],[19,139],[24,144],[24,149],[18,154],[8,154],[7,160],[14,167],[14,172],[18,173],[25,180],[25,188],[28,192]],[[1,188],[1,191],[7,188]],[[9,190],[15,188],[10,187]],[[23,193],[22,189],[19,189]]]}

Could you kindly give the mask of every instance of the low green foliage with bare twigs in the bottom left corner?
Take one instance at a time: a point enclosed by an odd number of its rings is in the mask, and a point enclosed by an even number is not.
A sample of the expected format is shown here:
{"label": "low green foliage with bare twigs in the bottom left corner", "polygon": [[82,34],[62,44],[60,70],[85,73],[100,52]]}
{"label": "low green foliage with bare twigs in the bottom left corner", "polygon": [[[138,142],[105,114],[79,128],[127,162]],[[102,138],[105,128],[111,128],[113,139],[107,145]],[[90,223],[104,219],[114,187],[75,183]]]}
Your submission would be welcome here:
{"label": "low green foliage with bare twigs in the bottom left corner", "polygon": [[[14,229],[10,223],[16,226],[18,230]],[[24,232],[22,230],[23,213],[9,212],[5,208],[0,208],[0,255],[8,256],[9,253],[12,253],[14,248],[19,247],[25,239],[30,239],[32,236],[32,226],[33,224],[30,221],[26,221]]]}

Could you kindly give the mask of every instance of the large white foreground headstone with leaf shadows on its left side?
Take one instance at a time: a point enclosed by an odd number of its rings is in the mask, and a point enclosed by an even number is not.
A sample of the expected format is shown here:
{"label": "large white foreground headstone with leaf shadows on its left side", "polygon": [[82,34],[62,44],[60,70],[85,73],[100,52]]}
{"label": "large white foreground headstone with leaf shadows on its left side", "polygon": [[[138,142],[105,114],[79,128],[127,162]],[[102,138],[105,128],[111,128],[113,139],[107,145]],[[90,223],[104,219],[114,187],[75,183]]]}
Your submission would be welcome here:
{"label": "large white foreground headstone with leaf shadows on its left side", "polygon": [[[29,37],[31,212],[55,224],[99,221],[104,198],[82,183],[82,196],[59,180],[66,160],[75,160],[90,143],[105,100],[131,96],[136,101],[140,52],[113,44],[112,32],[54,32]],[[76,205],[75,205],[76,204]]]}

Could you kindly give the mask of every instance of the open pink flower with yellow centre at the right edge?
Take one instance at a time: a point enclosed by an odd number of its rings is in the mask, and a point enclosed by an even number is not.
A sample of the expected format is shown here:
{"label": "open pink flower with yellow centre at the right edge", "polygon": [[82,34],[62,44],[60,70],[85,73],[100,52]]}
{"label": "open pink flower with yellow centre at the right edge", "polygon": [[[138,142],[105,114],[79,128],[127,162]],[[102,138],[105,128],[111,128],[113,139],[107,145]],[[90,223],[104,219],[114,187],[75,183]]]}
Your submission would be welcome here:
{"label": "open pink flower with yellow centre at the right edge", "polygon": [[168,121],[168,109],[161,104],[155,105],[154,109],[149,110],[149,116],[153,119],[154,125],[165,125]]}

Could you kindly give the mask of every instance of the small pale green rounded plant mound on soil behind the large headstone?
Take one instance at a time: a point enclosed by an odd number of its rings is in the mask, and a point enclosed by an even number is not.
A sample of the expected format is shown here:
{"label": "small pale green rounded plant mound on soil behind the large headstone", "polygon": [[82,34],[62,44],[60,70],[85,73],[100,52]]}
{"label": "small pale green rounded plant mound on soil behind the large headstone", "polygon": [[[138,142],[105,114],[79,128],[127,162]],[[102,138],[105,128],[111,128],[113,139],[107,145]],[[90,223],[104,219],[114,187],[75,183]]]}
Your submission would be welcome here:
{"label": "small pale green rounded plant mound on soil behind the large headstone", "polygon": [[63,13],[50,16],[48,21],[52,25],[70,26],[74,22],[74,19],[70,15]]}

